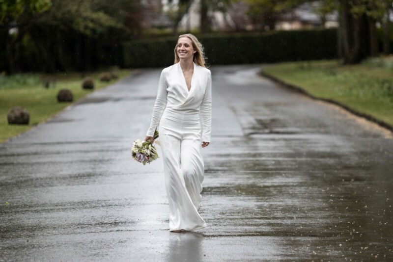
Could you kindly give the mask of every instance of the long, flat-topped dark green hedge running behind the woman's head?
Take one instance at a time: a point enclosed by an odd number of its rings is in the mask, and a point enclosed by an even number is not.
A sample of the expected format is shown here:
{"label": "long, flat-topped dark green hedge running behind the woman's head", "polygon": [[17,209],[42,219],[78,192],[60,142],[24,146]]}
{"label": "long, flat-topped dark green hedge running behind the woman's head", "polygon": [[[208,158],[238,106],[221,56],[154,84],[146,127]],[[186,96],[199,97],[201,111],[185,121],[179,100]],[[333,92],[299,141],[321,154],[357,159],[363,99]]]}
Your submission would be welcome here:
{"label": "long, flat-topped dark green hedge running behind the woman's head", "polygon": [[[337,56],[336,29],[277,31],[258,34],[199,36],[208,64],[271,63]],[[173,64],[176,38],[136,40],[123,44],[123,66]]]}

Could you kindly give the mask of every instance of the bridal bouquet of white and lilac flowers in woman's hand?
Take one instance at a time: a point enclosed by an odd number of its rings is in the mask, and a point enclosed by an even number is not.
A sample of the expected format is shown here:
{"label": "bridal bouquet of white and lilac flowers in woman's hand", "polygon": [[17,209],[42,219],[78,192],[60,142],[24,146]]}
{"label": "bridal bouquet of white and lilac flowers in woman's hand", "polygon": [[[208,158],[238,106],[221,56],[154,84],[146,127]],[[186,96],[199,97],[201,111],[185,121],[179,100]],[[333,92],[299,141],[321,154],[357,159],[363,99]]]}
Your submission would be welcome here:
{"label": "bridal bouquet of white and lilac flowers in woman's hand", "polygon": [[[156,130],[154,132],[154,139],[157,138],[158,138],[158,131]],[[154,142],[159,144],[158,141],[154,141]],[[143,165],[145,165],[146,163],[150,164],[153,160],[156,160],[158,158],[157,149],[150,142],[150,140],[141,141],[140,139],[138,139],[134,141],[131,151],[132,151],[132,157],[138,162],[143,163]]]}

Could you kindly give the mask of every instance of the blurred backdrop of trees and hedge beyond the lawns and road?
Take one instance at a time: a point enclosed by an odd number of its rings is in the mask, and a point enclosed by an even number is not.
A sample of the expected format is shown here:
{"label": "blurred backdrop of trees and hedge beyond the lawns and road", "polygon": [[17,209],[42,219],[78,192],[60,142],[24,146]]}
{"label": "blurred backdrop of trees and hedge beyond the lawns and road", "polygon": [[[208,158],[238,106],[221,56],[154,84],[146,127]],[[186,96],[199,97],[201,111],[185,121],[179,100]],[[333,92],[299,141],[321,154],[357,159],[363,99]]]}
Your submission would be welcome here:
{"label": "blurred backdrop of trees and hedge beyond the lawns and road", "polygon": [[0,71],[163,66],[195,33],[210,64],[339,57],[392,50],[393,0],[0,0]]}

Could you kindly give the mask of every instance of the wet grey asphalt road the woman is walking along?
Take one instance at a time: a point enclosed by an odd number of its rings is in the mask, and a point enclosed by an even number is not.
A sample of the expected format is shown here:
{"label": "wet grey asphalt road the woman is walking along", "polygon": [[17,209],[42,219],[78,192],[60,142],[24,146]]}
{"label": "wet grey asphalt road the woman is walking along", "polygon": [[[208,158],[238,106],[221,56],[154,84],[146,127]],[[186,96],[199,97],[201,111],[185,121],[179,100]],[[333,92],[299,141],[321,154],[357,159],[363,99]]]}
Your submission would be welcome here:
{"label": "wet grey asphalt road the woman is walking along", "polygon": [[0,145],[0,261],[392,261],[392,134],[257,72],[212,68],[209,227],[169,233],[162,160],[131,158],[143,70]]}

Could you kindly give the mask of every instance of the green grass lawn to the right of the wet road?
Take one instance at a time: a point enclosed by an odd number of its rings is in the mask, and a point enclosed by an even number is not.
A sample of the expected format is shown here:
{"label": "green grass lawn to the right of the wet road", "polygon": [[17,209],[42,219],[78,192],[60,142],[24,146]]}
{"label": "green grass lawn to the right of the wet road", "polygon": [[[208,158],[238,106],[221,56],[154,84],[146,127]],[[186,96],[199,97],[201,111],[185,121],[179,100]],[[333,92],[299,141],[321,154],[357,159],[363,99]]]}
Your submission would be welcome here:
{"label": "green grass lawn to the right of the wet road", "polygon": [[393,126],[393,56],[359,65],[337,60],[280,63],[263,72]]}

